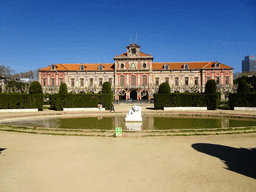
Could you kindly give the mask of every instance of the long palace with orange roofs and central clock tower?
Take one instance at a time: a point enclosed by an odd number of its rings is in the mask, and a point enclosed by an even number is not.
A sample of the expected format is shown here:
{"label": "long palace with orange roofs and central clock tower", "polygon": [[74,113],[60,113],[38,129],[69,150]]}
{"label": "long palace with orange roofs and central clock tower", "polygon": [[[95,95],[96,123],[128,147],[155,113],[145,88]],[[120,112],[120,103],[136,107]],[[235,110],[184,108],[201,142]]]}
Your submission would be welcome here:
{"label": "long palace with orange roofs and central clock tower", "polygon": [[98,93],[109,81],[115,100],[148,100],[163,82],[170,84],[171,92],[204,92],[209,79],[216,81],[223,95],[232,91],[233,68],[218,61],[155,63],[154,57],[141,52],[137,44],[126,48],[113,63],[58,63],[40,69],[43,92],[58,92],[63,82],[68,92]]}

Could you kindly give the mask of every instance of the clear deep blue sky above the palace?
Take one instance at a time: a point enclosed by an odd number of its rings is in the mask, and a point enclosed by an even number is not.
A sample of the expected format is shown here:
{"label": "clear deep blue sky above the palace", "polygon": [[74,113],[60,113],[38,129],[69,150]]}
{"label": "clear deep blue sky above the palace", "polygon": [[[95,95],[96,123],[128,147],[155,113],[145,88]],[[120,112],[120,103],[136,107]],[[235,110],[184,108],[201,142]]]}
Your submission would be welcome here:
{"label": "clear deep blue sky above the palace", "polygon": [[256,56],[254,0],[0,0],[0,65],[111,63],[136,41],[154,62]]}

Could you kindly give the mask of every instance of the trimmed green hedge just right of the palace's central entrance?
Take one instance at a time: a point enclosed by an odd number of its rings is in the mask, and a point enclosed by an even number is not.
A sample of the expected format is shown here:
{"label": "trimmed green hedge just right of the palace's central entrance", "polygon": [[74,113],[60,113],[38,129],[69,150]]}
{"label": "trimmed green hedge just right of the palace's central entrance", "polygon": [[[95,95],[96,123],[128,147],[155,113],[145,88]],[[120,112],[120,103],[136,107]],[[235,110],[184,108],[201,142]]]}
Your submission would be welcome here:
{"label": "trimmed green hedge just right of the palace's central entrance", "polygon": [[214,110],[219,105],[219,94],[170,93],[154,94],[154,107],[205,107]]}

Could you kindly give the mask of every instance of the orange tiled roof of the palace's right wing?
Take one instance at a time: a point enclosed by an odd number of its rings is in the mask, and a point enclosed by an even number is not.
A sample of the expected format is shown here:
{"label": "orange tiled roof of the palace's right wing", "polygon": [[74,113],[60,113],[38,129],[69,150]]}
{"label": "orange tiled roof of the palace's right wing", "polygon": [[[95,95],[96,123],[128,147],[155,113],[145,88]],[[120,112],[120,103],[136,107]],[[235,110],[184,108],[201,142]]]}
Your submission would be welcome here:
{"label": "orange tiled roof of the palace's right wing", "polygon": [[[169,65],[170,70],[180,70],[184,69],[184,65],[188,65],[188,69],[212,69],[215,68],[214,61],[202,61],[202,62],[161,62],[161,63],[152,63],[152,69],[153,70],[163,70],[164,65]],[[232,67],[229,67],[224,64],[220,64],[219,68],[228,68],[232,69]]]}

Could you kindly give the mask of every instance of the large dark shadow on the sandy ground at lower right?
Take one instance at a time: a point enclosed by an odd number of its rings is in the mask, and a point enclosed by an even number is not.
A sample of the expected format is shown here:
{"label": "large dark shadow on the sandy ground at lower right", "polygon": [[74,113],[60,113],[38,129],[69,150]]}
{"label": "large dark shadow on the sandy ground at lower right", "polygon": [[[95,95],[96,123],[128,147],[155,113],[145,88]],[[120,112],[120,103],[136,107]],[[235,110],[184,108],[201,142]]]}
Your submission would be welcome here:
{"label": "large dark shadow on the sandy ground at lower right", "polygon": [[256,179],[256,148],[234,148],[210,143],[195,143],[192,147],[221,159],[228,170]]}

